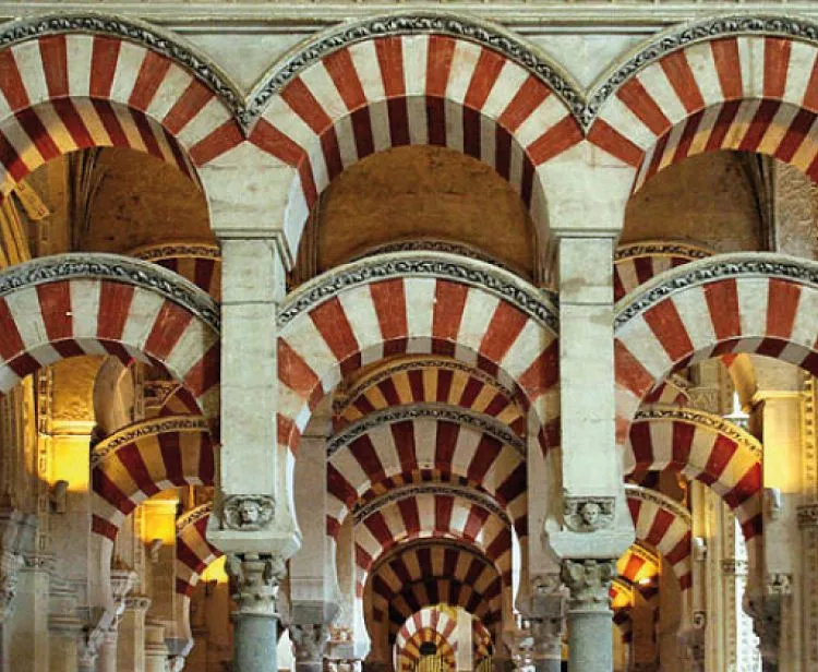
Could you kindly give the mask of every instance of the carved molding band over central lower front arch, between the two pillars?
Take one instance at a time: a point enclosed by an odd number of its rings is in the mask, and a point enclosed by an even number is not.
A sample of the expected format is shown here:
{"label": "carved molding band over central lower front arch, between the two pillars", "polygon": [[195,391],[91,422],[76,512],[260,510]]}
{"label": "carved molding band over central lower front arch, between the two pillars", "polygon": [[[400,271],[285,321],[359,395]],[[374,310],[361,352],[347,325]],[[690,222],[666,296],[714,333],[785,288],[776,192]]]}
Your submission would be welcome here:
{"label": "carved molding band over central lower front arch, between the two pillars", "polygon": [[301,313],[352,287],[397,277],[431,277],[478,287],[513,303],[553,334],[558,333],[558,312],[541,290],[502,268],[442,252],[380,254],[322,274],[287,298],[278,312],[278,327],[286,327]]}

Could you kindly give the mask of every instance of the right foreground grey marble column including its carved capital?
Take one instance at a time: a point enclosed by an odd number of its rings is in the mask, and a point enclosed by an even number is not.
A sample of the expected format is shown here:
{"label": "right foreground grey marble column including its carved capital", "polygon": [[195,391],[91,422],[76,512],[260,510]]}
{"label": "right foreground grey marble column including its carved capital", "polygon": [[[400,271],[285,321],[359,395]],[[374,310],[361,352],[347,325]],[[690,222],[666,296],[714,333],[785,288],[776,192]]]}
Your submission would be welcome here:
{"label": "right foreground grey marble column including its carved capital", "polygon": [[572,672],[613,670],[613,627],[609,589],[614,560],[566,560],[562,578],[568,586],[568,668]]}

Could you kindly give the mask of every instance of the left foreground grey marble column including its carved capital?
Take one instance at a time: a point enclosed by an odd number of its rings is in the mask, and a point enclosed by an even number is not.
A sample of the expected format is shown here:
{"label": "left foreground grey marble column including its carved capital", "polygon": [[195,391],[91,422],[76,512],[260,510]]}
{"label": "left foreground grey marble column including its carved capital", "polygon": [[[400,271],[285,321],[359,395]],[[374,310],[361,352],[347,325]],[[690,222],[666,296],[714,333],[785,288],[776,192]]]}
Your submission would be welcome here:
{"label": "left foreground grey marble column including its carved capital", "polygon": [[276,596],[287,573],[278,555],[228,555],[227,572],[234,584],[233,665],[240,672],[277,672]]}

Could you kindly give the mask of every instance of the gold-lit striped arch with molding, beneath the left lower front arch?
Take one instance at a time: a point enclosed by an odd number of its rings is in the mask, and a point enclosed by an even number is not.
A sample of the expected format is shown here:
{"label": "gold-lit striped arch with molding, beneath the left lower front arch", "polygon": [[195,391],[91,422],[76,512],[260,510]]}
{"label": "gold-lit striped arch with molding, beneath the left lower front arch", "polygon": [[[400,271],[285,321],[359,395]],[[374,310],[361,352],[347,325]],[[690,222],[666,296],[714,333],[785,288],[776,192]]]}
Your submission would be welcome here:
{"label": "gold-lit striped arch with molding, beneath the left lower front arch", "polygon": [[142,502],[170,488],[213,485],[214,475],[203,418],[160,418],[123,428],[92,453],[92,530],[113,542],[125,516]]}

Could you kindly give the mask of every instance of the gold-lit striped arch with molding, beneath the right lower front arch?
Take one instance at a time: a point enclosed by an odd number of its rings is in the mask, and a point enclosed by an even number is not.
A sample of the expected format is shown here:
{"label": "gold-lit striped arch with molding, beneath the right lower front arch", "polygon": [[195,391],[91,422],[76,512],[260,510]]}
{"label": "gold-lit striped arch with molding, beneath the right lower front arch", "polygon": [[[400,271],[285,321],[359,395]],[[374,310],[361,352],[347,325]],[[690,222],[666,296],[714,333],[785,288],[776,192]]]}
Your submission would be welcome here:
{"label": "gold-lit striped arch with molding, beneath the right lower front arch", "polygon": [[696,409],[638,413],[623,454],[625,475],[672,470],[709,485],[751,539],[762,531],[761,444],[732,422]]}

